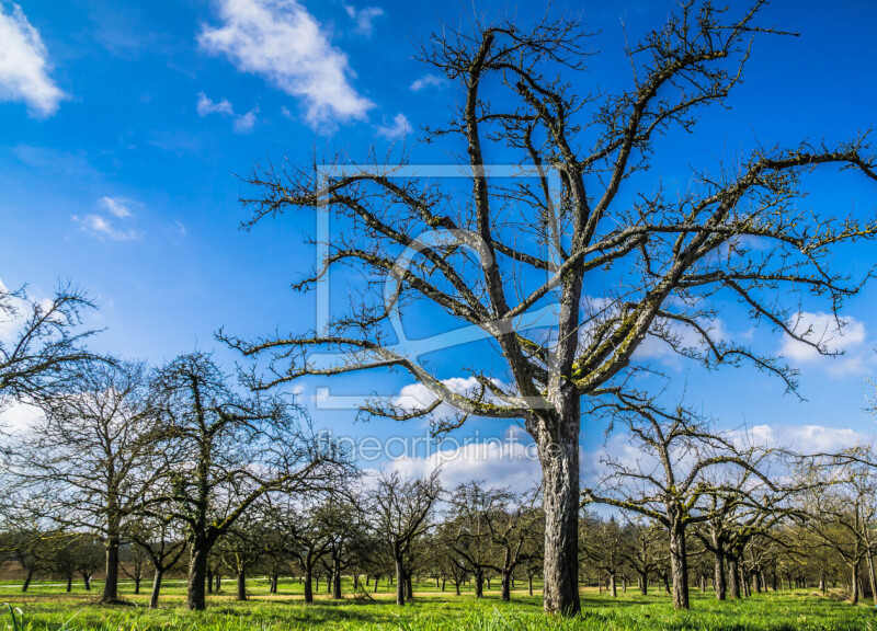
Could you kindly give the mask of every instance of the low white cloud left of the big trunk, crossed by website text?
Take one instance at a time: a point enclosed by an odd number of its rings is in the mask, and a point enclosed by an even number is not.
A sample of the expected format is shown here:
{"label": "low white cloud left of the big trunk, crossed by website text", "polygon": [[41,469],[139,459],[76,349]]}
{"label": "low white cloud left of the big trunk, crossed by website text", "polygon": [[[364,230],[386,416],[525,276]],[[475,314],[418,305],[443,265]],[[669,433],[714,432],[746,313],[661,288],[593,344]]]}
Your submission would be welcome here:
{"label": "low white cloud left of the big trunk, crossed by website text", "polygon": [[446,487],[483,480],[487,485],[526,491],[542,480],[535,445],[516,425],[510,426],[501,438],[476,438],[452,447],[443,445],[426,457],[396,458],[386,467],[410,477],[423,477],[438,468]]}

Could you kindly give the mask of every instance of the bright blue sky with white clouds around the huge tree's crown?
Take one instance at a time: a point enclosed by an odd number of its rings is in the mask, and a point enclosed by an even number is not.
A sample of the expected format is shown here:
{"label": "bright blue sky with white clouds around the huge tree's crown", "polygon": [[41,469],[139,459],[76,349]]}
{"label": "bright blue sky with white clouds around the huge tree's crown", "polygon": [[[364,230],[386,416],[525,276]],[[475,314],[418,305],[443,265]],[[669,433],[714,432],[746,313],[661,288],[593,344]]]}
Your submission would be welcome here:
{"label": "bright blue sky with white clouds around the huge tree's crown", "polygon": [[[476,7],[522,20],[545,10],[536,2]],[[601,55],[578,79],[582,88],[613,90],[629,80],[622,20],[637,38],[673,3],[553,7],[582,12],[597,32],[591,46]],[[288,288],[314,263],[301,243],[312,217],[240,232],[243,186],[236,174],[284,156],[306,162],[315,149],[341,149],[352,159],[371,146],[384,152],[402,133],[410,147],[419,126],[444,121],[459,96],[412,58],[412,43],[440,21],[472,12],[469,2],[388,0],[0,0],[0,39],[11,43],[0,51],[0,278],[9,287],[29,283],[35,296],[48,295],[58,279],[73,280],[100,305],[90,323],[106,330],[95,347],[156,363],[215,348],[219,326],[248,336],[314,325],[314,297]],[[874,124],[877,82],[867,59],[877,4],[777,1],[762,22],[800,37],[758,41],[731,108],[706,112],[693,136],[668,137],[671,158],[654,164],[656,175],[684,179],[688,165],[733,158],[755,141],[834,141]],[[452,149],[460,147],[414,145],[412,159],[436,163]],[[836,214],[877,205],[873,190],[836,173],[813,177],[809,188],[809,204]],[[875,262],[873,245],[839,256],[851,271]],[[806,402],[745,368],[704,375],[660,349],[652,360],[688,383],[692,402],[727,426],[770,426],[802,443],[867,438],[875,299],[872,285],[847,305],[844,357],[763,341],[800,366]],[[733,316],[722,324],[748,326]],[[221,348],[218,356],[236,359]],[[442,364],[443,378],[456,376],[458,359]],[[334,388],[372,390],[376,379],[390,390],[410,381],[360,376]],[[303,393],[311,405],[316,386],[306,383]],[[389,423],[351,428],[344,411],[315,408],[315,415],[341,433],[421,432]],[[502,435],[506,425],[478,428]],[[602,433],[586,422],[584,428],[590,450]]]}

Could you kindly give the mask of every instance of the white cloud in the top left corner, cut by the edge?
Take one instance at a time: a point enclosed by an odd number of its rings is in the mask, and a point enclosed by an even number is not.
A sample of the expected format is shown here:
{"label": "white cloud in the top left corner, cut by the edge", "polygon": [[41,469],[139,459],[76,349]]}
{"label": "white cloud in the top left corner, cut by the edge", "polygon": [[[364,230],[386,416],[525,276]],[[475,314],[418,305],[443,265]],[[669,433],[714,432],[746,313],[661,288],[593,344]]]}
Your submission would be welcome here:
{"label": "white cloud in the top left corner, cut by the edge", "polygon": [[15,3],[0,0],[0,101],[27,104],[32,116],[50,116],[65,93],[48,76],[48,50]]}

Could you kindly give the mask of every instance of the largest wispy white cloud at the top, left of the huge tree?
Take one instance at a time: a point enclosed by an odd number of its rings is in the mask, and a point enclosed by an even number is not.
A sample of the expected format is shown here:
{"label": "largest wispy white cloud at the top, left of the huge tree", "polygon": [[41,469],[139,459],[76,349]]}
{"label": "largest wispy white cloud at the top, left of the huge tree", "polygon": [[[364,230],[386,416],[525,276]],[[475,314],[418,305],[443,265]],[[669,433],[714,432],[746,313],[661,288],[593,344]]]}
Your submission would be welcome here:
{"label": "largest wispy white cloud at the top, left of the huge tree", "polygon": [[264,77],[304,101],[316,127],[363,119],[373,103],[350,84],[348,56],[296,0],[217,0],[223,24],[205,26],[202,48],[225,55],[243,72]]}

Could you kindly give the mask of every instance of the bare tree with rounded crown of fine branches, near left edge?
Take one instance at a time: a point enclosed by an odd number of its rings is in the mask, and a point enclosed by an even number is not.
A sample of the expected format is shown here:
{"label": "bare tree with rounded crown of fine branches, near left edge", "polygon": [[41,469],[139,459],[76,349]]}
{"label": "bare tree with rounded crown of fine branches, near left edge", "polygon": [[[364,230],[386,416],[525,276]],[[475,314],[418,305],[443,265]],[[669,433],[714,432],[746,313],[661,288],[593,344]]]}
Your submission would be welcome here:
{"label": "bare tree with rounded crown of fine branches, near left edge", "polygon": [[101,534],[102,600],[116,600],[122,530],[158,475],[161,428],[148,403],[146,368],[95,363],[39,404],[45,415],[13,448],[10,469],[30,490],[35,513]]}

